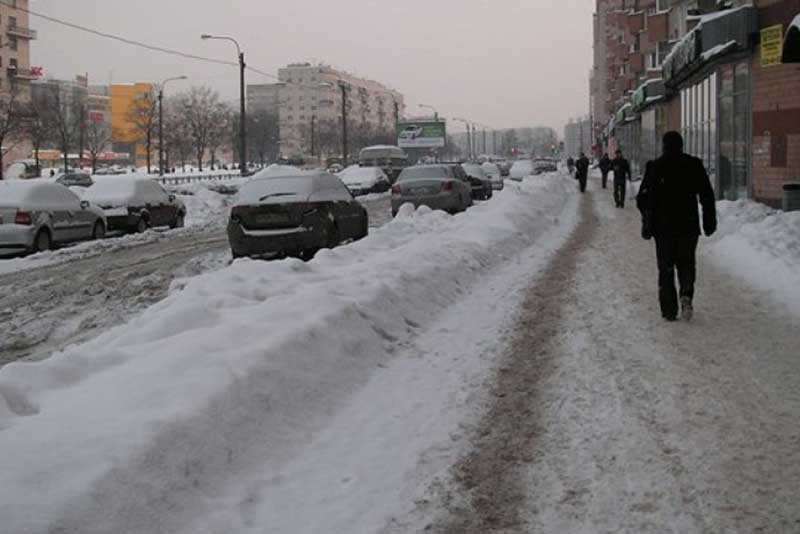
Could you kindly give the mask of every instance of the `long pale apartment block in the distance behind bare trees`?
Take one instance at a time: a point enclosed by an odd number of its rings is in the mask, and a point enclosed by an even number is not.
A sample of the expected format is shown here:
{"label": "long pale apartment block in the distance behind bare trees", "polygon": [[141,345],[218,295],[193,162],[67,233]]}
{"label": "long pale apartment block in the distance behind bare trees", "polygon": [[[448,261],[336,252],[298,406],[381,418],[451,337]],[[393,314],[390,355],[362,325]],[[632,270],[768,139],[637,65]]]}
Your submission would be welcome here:
{"label": "long pale apartment block in the distance behind bare trees", "polygon": [[278,79],[249,86],[248,106],[277,115],[280,152],[287,157],[320,155],[325,147],[320,150],[318,137],[341,128],[343,102],[353,138],[376,132],[393,136],[405,109],[399,92],[328,65],[290,64],[279,69]]}

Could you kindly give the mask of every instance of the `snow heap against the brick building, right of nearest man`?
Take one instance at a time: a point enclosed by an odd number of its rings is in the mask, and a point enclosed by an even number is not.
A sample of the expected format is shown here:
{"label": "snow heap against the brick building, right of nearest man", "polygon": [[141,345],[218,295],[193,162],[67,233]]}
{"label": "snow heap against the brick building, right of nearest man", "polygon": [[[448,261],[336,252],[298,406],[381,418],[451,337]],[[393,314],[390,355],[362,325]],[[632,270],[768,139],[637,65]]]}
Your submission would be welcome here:
{"label": "snow heap against the brick building, right of nearest man", "polygon": [[800,315],[800,212],[747,200],[721,201],[717,209],[709,258]]}

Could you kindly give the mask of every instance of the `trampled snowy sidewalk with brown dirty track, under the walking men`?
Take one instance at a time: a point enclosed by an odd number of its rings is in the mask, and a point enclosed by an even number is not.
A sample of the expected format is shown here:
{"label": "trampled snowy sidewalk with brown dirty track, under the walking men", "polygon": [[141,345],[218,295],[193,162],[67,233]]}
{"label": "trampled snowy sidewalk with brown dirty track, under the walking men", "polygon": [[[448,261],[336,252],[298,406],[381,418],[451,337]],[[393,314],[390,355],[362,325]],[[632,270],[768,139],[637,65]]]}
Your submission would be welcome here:
{"label": "trampled snowy sidewalk with brown dirty track, under the walking men", "polygon": [[701,252],[694,322],[664,322],[632,202],[583,200],[432,530],[800,532],[798,318]]}

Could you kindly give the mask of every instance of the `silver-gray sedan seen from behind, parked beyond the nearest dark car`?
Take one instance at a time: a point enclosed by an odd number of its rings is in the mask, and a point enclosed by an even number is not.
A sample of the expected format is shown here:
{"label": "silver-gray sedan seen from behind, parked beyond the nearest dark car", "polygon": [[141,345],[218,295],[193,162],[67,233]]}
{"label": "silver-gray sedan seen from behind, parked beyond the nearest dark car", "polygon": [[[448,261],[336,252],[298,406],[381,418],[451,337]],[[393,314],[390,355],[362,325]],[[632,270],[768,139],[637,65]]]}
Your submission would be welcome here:
{"label": "silver-gray sedan seen from behind, parked beyond the nearest dark car", "polygon": [[460,165],[407,167],[392,186],[392,215],[406,202],[456,213],[472,206],[472,186]]}

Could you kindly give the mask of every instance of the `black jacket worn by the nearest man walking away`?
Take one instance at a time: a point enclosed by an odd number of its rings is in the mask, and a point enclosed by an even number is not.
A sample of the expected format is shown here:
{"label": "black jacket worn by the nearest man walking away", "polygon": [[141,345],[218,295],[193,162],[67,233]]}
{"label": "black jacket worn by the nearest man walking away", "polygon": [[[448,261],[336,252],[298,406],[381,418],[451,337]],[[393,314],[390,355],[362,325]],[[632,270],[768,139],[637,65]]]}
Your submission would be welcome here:
{"label": "black jacket worn by the nearest man walking away", "polygon": [[703,230],[711,235],[717,229],[717,210],[703,162],[683,153],[648,162],[636,197],[642,237],[700,235],[698,199],[703,206]]}

